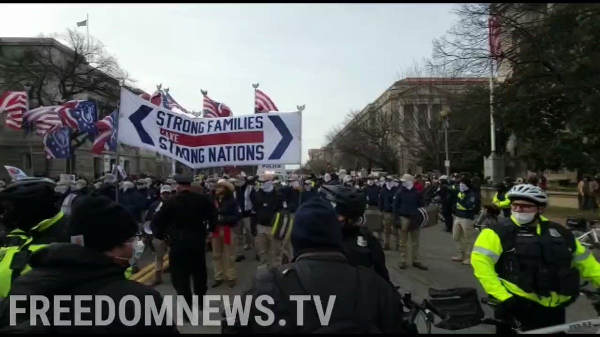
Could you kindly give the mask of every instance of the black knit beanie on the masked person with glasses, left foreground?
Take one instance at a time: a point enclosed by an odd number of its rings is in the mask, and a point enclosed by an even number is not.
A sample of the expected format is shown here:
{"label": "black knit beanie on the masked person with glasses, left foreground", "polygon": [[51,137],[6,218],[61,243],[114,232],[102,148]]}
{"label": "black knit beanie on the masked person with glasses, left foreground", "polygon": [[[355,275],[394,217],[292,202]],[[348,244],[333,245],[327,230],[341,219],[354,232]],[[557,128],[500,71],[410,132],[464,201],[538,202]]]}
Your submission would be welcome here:
{"label": "black knit beanie on the masked person with glasses, left foreground", "polygon": [[68,226],[71,236],[83,236],[83,245],[105,252],[136,236],[137,222],[130,212],[103,195],[78,197]]}

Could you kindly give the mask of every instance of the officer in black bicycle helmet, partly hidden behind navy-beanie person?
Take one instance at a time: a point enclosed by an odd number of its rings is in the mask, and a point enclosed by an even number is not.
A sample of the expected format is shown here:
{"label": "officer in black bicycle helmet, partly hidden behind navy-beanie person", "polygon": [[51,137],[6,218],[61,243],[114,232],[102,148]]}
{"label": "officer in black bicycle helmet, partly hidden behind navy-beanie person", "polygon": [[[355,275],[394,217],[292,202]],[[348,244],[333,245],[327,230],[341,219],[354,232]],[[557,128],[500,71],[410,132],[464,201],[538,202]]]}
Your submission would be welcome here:
{"label": "officer in black bicycle helmet, partly hidden behind navy-beanie person", "polygon": [[389,281],[388,269],[385,267],[385,254],[373,234],[360,224],[367,208],[364,193],[356,188],[340,185],[325,185],[327,198],[335,205],[338,221],[341,224],[344,254],[350,263],[356,266],[373,268],[383,279]]}

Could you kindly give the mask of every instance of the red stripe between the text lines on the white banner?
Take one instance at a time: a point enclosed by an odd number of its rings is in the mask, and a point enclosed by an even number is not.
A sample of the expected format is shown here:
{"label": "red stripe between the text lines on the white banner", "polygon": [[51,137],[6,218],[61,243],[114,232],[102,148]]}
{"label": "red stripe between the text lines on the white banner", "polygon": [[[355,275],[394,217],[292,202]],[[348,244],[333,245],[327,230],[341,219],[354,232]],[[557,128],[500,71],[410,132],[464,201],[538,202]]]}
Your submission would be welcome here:
{"label": "red stripe between the text lines on the white banner", "polygon": [[160,134],[167,137],[173,143],[195,148],[197,146],[231,145],[262,143],[265,140],[263,131],[242,131],[236,133],[206,134],[202,136],[191,136],[176,131],[160,129]]}

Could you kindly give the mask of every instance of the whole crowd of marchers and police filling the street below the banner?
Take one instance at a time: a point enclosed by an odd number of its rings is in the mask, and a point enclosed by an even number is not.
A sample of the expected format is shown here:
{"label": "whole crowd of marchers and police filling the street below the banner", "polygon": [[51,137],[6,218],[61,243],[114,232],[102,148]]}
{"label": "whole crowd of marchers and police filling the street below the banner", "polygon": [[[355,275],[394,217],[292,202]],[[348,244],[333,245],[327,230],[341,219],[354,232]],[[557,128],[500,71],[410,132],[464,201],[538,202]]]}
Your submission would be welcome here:
{"label": "whole crowd of marchers and police filling the street below the banner", "polygon": [[[154,284],[163,281],[163,257],[169,254],[173,288],[190,306],[193,295],[204,296],[209,286],[235,287],[236,263],[255,258],[256,276],[244,295],[274,298],[271,307],[277,318],[296,323],[296,303],[284,300],[289,294],[328,294],[338,299],[326,327],[316,314],[305,315],[301,327],[261,326],[254,320],[242,324],[238,317],[233,325],[223,326],[226,333],[412,333],[415,326],[406,320],[384,251],[399,251],[398,267],[406,269],[410,240],[412,266],[428,270],[419,257],[419,210],[439,203],[444,228],[457,245],[458,254],[451,260],[473,266],[485,291],[501,301],[498,317],[515,315],[535,329],[565,320],[564,308],[572,302],[580,275],[600,286],[600,264],[572,234],[544,218],[547,195],[536,184],[535,177],[527,183],[506,179],[498,184],[491,207],[505,216],[475,240],[481,179],[468,173],[354,177],[341,170],[279,179],[242,172],[121,182],[105,174],[91,186],[83,179],[56,182],[28,177],[0,191],[4,225],[0,297],[150,296],[160,308],[163,299],[154,288],[128,280],[141,252],[150,248],[155,254]],[[380,216],[368,219],[369,212]],[[372,219],[380,220],[373,226],[368,223]],[[555,232],[562,237],[560,242]],[[531,239],[536,235],[539,242]],[[533,248],[541,249],[539,256],[551,248],[551,261],[560,263],[550,266],[545,258],[532,258]],[[207,251],[212,251],[211,285]],[[513,268],[525,262],[527,270]],[[544,274],[547,283],[527,281],[541,279],[541,270],[550,272]],[[567,274],[569,282],[562,282],[561,275]],[[2,331],[48,331],[34,327],[29,315],[18,316],[16,325],[8,324],[7,302],[0,303]],[[250,308],[250,317],[260,315],[255,303]],[[533,314],[527,317],[526,312]],[[177,329],[162,323],[126,326],[115,321],[76,331],[175,333]]]}

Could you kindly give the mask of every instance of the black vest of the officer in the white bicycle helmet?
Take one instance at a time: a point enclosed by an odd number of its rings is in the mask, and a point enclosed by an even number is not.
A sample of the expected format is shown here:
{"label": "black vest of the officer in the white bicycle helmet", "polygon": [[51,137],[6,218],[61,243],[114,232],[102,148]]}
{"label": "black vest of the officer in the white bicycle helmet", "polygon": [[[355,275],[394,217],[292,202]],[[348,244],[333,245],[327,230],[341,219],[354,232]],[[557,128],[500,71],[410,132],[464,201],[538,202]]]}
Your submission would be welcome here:
{"label": "black vest of the officer in the white bicycle helmet", "polygon": [[496,263],[498,276],[538,296],[547,297],[555,291],[577,297],[579,270],[571,267],[574,236],[554,222],[539,220],[539,226],[539,235],[536,227],[518,226],[510,218],[490,226],[502,243]]}

